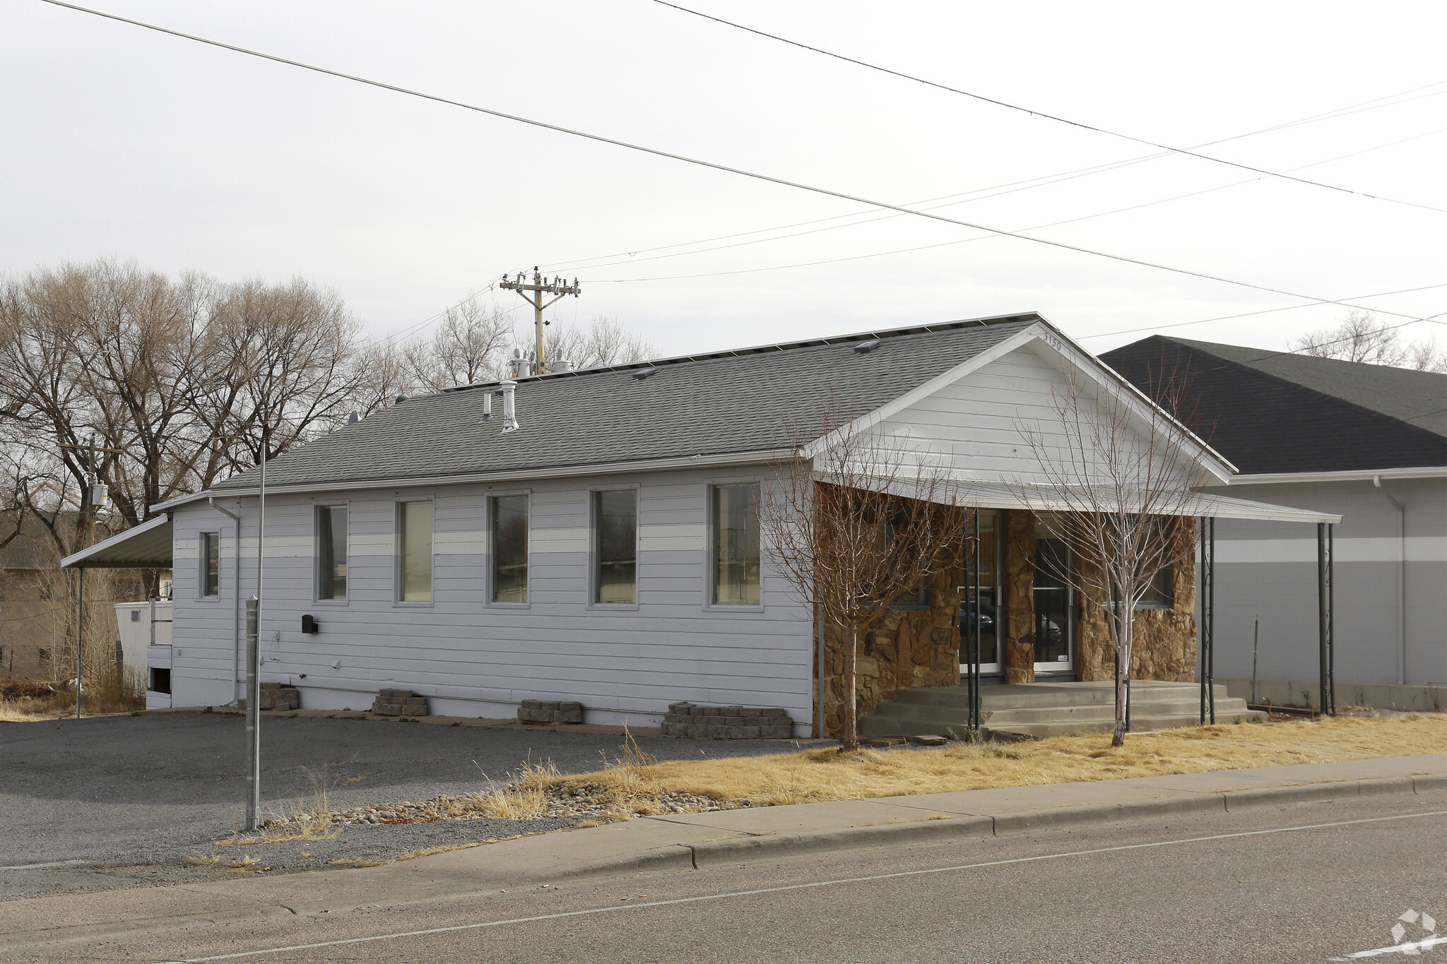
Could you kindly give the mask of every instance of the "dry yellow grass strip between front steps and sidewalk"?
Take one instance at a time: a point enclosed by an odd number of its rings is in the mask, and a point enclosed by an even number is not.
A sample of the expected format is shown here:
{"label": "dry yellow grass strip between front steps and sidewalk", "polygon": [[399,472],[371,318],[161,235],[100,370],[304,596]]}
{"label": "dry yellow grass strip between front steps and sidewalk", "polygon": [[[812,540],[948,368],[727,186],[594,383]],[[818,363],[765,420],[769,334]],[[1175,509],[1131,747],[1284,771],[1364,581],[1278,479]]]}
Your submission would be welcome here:
{"label": "dry yellow grass strip between front steps and sidewalk", "polygon": [[917,750],[820,749],[664,763],[635,759],[554,782],[601,783],[614,788],[634,812],[648,812],[640,805],[650,793],[669,791],[757,806],[1440,752],[1447,752],[1447,714],[1405,714],[1188,727],[1129,736],[1120,749],[1111,749],[1110,734],[1100,734]]}

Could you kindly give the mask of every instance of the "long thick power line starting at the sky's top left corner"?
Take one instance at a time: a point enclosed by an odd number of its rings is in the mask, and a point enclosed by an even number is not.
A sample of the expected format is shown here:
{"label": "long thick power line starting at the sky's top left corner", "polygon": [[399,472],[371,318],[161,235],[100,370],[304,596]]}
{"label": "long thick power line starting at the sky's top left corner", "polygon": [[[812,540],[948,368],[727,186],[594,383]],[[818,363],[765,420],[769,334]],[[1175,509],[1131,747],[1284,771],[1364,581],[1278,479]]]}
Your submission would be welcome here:
{"label": "long thick power line starting at the sky's top left corner", "polygon": [[[574,136],[574,137],[583,137],[586,140],[593,140],[593,142],[598,142],[598,143],[612,145],[615,147],[625,147],[628,150],[637,150],[640,153],[653,155],[655,158],[666,158],[669,160],[679,160],[682,163],[690,163],[690,165],[695,165],[695,166],[699,166],[699,168],[709,168],[712,171],[721,171],[724,173],[734,173],[734,175],[739,175],[739,176],[744,176],[744,178],[752,178],[754,181],[761,181],[761,182],[765,182],[765,184],[777,184],[780,186],[784,186],[784,188],[794,188],[794,189],[799,189],[799,191],[809,191],[812,194],[819,194],[819,195],[831,197],[831,198],[839,198],[842,201],[851,201],[854,204],[865,204],[865,205],[877,207],[877,208],[881,208],[881,210],[886,210],[886,211],[899,211],[901,214],[913,214],[916,217],[923,217],[923,218],[929,218],[929,220],[933,220],[933,221],[942,221],[945,224],[956,224],[959,227],[968,227],[968,228],[974,228],[974,230],[978,230],[978,231],[990,231],[990,233],[994,233],[994,234],[1000,234],[1003,237],[1014,237],[1014,238],[1019,238],[1019,240],[1023,240],[1023,241],[1032,241],[1035,244],[1045,244],[1048,247],[1056,247],[1056,249],[1066,250],[1066,251],[1077,251],[1077,253],[1081,253],[1081,254],[1091,254],[1094,257],[1104,257],[1104,259],[1108,259],[1108,260],[1120,262],[1123,264],[1137,264],[1140,267],[1153,267],[1156,270],[1171,272],[1174,275],[1182,275],[1182,276],[1187,276],[1187,277],[1200,277],[1202,280],[1220,282],[1223,285],[1234,285],[1237,288],[1250,288],[1250,289],[1255,289],[1255,291],[1263,291],[1263,292],[1269,292],[1269,293],[1273,293],[1273,295],[1283,295],[1286,298],[1299,298],[1299,299],[1305,299],[1305,301],[1320,301],[1323,304],[1338,305],[1341,308],[1357,308],[1357,309],[1362,309],[1362,311],[1372,311],[1370,308],[1367,308],[1365,305],[1353,305],[1350,302],[1336,301],[1336,299],[1331,299],[1331,298],[1314,298],[1312,295],[1302,295],[1299,292],[1292,292],[1289,289],[1270,288],[1268,285],[1255,285],[1252,282],[1240,282],[1240,280],[1234,280],[1234,279],[1230,279],[1230,277],[1223,277],[1223,276],[1218,276],[1218,275],[1211,275],[1211,273],[1207,273],[1207,272],[1197,272],[1197,270],[1191,270],[1191,269],[1187,269],[1187,267],[1174,267],[1174,266],[1169,266],[1169,264],[1159,264],[1156,262],[1147,262],[1145,259],[1130,257],[1127,254],[1111,254],[1108,251],[1097,251],[1097,250],[1092,250],[1092,249],[1088,249],[1088,247],[1081,247],[1078,244],[1066,244],[1065,241],[1052,241],[1049,238],[1042,238],[1042,237],[1033,237],[1033,236],[1029,236],[1029,234],[1022,234],[1020,231],[1007,231],[1004,228],[988,227],[985,224],[975,224],[975,223],[962,221],[962,220],[958,220],[958,218],[948,218],[948,217],[945,217],[942,214],[932,214],[929,211],[919,211],[919,210],[915,210],[915,208],[906,208],[906,207],[901,207],[899,204],[888,204],[888,202],[884,202],[884,201],[874,201],[874,199],[864,198],[864,197],[860,197],[860,195],[845,194],[844,191],[833,191],[833,189],[829,189],[829,188],[819,188],[819,186],[802,184],[802,182],[797,182],[797,181],[789,181],[789,179],[784,179],[784,178],[776,178],[776,176],[771,176],[771,175],[758,173],[758,172],[754,172],[754,171],[744,171],[742,168],[732,168],[729,165],[716,163],[716,162],[712,162],[712,160],[702,160],[699,158],[689,158],[686,155],[671,153],[671,152],[667,152],[667,150],[661,150],[658,147],[647,147],[647,146],[642,146],[642,145],[635,145],[635,143],[629,143],[629,142],[625,142],[625,140],[618,140],[618,139],[614,139],[614,137],[605,137],[602,134],[592,134],[592,133],[582,132],[582,130],[573,130],[570,127],[561,127],[559,124],[550,124],[550,123],[541,121],[541,120],[531,120],[528,117],[519,117],[517,114],[508,114],[505,111],[493,110],[491,107],[480,107],[480,106],[476,106],[476,104],[467,104],[467,103],[463,103],[463,101],[450,100],[447,97],[440,97],[437,94],[425,94],[425,92],[414,91],[414,90],[410,90],[410,88],[405,88],[405,87],[396,87],[394,84],[385,84],[382,81],[373,81],[373,79],[368,79],[365,77],[356,77],[353,74],[343,74],[340,71],[333,71],[333,69],[328,69],[328,68],[324,68],[324,66],[315,66],[313,64],[304,64],[301,61],[292,61],[292,59],[288,59],[288,58],[284,58],[284,56],[276,56],[273,53],[262,53],[259,51],[250,51],[247,48],[234,46],[234,45],[230,45],[230,43],[223,43],[220,40],[210,40],[207,38],[195,36],[195,35],[191,35],[191,33],[182,33],[179,30],[172,30],[169,27],[162,27],[162,26],[156,26],[156,25],[152,25],[152,23],[143,23],[140,20],[132,20],[129,17],[122,17],[122,16],[117,16],[114,13],[104,13],[101,10],[93,10],[90,7],[81,7],[81,6],[77,6],[77,4],[72,4],[72,3],[65,3],[64,0],[42,0],[42,1],[43,3],[49,3],[52,6],[67,7],[69,10],[77,10],[80,13],[90,13],[93,16],[106,17],[109,20],[116,20],[116,22],[120,22],[120,23],[129,23],[132,26],[139,26],[139,27],[143,27],[146,30],[155,30],[158,33],[168,33],[171,36],[178,36],[178,38],[185,39],[185,40],[194,40],[197,43],[205,43],[205,45],[210,45],[210,46],[217,46],[217,48],[221,48],[221,49],[226,49],[226,51],[233,51],[236,53],[245,53],[247,56],[256,56],[256,58],[260,58],[260,59],[273,61],[276,64],[285,64],[288,66],[298,66],[301,69],[314,71],[317,74],[327,74],[328,77],[339,77],[341,79],[355,81],[357,84],[366,84],[369,87],[378,87],[378,88],[382,88],[382,90],[389,90],[389,91],[398,92],[398,94],[408,94],[411,97],[420,97],[423,100],[430,100],[430,101],[434,101],[434,103],[438,103],[438,104],[449,104],[451,107],[462,107],[463,110],[470,110],[470,111],[476,111],[479,114],[488,114],[488,116],[492,116],[492,117],[501,117],[502,120],[512,120],[512,121],[517,121],[517,123],[521,123],[521,124],[528,124],[531,127],[540,127],[543,130],[553,130],[553,132],[563,133],[563,134],[570,134],[570,136]],[[1266,173],[1269,173],[1269,172],[1266,172]],[[1380,314],[1396,315],[1399,318],[1412,318],[1414,321],[1425,321],[1424,318],[1418,318],[1415,315],[1404,315],[1401,312],[1388,312],[1388,311],[1383,311]]]}

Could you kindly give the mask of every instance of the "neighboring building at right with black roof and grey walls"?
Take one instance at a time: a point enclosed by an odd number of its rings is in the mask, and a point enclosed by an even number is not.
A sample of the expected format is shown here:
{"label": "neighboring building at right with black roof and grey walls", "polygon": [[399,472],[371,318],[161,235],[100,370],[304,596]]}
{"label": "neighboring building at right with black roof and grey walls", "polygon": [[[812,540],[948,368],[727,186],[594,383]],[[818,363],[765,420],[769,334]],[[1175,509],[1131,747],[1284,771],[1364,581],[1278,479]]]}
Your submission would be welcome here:
{"label": "neighboring building at right with black roof and grey walls", "polygon": [[[1447,374],[1165,335],[1101,360],[1153,397],[1184,389],[1182,418],[1240,470],[1231,494],[1344,516],[1334,543],[1340,679],[1447,682]],[[1259,678],[1315,678],[1317,598],[1304,578],[1315,533],[1282,535],[1218,525],[1217,597],[1229,603],[1218,676],[1249,681],[1259,620]]]}

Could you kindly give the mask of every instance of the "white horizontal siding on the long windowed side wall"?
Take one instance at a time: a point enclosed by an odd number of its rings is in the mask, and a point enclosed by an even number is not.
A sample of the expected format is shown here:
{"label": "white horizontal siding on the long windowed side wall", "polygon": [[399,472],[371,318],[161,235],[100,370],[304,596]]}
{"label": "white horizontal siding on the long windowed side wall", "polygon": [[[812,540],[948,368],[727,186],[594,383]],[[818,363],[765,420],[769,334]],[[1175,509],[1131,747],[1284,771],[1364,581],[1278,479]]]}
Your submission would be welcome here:
{"label": "white horizontal siding on the long windowed side wall", "polygon": [[[735,471],[718,481],[738,478]],[[765,572],[761,607],[706,604],[708,487],[713,477],[682,470],[614,481],[638,487],[634,607],[590,604],[590,480],[496,489],[505,494],[530,491],[530,603],[522,607],[488,600],[488,486],[328,493],[326,500],[268,497],[263,676],[356,694],[407,687],[424,695],[478,701],[492,707],[489,713],[499,701],[554,698],[606,711],[592,720],[606,721],[608,713],[637,720],[638,714],[663,713],[676,700],[695,700],[786,707],[796,721],[807,724],[812,624],[783,578]],[[398,497],[434,499],[430,604],[395,601]],[[349,506],[349,598],[317,601],[313,504],[340,500]],[[255,591],[255,500],[247,500],[242,513],[245,597]],[[195,539],[216,516],[204,506],[177,510],[178,543]],[[229,519],[226,523],[230,526]],[[284,552],[271,549],[273,541]],[[223,556],[220,601],[194,598],[197,564],[182,567],[190,572],[190,594],[182,593],[178,569],[175,630],[182,653],[187,643],[195,650],[178,666],[188,665],[197,678],[224,676],[229,685],[234,578],[229,552]],[[302,614],[314,616],[321,632],[302,634]],[[327,700],[366,702],[360,697]],[[185,702],[178,691],[177,705]]]}

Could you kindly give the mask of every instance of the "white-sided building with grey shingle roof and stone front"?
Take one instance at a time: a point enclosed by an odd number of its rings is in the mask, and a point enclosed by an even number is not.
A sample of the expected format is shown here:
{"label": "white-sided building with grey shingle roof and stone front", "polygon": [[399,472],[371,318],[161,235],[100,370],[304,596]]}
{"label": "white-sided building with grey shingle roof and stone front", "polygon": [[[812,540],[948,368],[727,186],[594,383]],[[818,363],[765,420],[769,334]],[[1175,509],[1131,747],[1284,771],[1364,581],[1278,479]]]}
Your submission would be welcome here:
{"label": "white-sided building with grey shingle roof and stone front", "polygon": [[[816,694],[842,692],[839,660],[820,652],[828,633],[774,568],[757,517],[778,464],[816,442],[828,416],[938,457],[969,493],[955,504],[980,510],[994,546],[975,575],[936,580],[871,629],[864,713],[897,688],[958,685],[965,578],[980,582],[981,608],[1000,607],[984,673],[1100,679],[1113,672],[1104,623],[1087,632],[1068,591],[1020,575],[1036,565],[1036,530],[1010,489],[1043,478],[1020,419],[1045,418],[1043,436],[1059,438],[1049,402],[1072,380],[1153,412],[1035,314],[402,400],[265,467],[262,675],[295,685],[307,708],[360,710],[382,689],[411,689],[437,714],[509,717],[525,700],[556,700],[582,702],[589,723],[647,726],[689,700],[783,708],[796,736],[826,711],[833,731],[839,704],[822,710]],[[1221,481],[1233,471],[1210,451],[1197,461]],[[153,653],[169,692],[152,705],[239,695],[260,478],[252,468],[156,506],[166,515],[67,559],[175,559],[174,645]],[[1229,502],[1211,504],[1302,515]],[[1010,620],[1006,571],[1019,577]],[[1159,632],[1142,665],[1159,681],[1195,672],[1192,572],[1175,574],[1179,593],[1143,616]],[[1194,715],[1194,692],[1185,701]]]}

